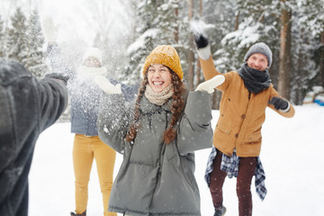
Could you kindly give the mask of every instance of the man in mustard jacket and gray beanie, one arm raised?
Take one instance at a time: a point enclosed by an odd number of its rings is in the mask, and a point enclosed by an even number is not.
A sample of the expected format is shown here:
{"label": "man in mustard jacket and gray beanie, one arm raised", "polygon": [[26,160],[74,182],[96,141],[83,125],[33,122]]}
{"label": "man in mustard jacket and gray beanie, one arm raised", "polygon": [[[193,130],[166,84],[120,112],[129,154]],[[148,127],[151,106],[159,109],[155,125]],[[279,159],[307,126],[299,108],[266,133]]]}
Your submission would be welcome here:
{"label": "man in mustard jacket and gray beanie, one arm raised", "polygon": [[[207,37],[194,34],[206,80],[220,75],[213,65]],[[256,175],[257,193],[266,196],[265,173],[259,159],[261,128],[266,119],[266,107],[284,117],[291,118],[294,108],[271,84],[268,68],[272,63],[272,51],[266,43],[259,42],[248,49],[245,64],[238,71],[222,74],[223,84],[216,88],[222,92],[220,117],[213,135],[213,146],[205,179],[209,184],[216,215],[223,215],[222,185],[226,175],[237,176],[239,215],[252,215],[250,191],[253,175]]]}

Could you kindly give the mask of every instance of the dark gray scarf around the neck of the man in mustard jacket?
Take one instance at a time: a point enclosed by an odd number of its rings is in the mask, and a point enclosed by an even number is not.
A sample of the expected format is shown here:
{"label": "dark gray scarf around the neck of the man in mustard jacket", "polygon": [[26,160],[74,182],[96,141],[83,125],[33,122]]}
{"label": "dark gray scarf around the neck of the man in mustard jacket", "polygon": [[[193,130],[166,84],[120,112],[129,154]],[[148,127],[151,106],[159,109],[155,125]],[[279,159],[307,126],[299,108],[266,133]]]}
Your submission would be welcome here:
{"label": "dark gray scarf around the neck of the man in mustard jacket", "polygon": [[254,94],[267,89],[271,84],[270,75],[267,70],[260,71],[247,67],[247,63],[238,69],[238,75],[243,79],[247,90]]}

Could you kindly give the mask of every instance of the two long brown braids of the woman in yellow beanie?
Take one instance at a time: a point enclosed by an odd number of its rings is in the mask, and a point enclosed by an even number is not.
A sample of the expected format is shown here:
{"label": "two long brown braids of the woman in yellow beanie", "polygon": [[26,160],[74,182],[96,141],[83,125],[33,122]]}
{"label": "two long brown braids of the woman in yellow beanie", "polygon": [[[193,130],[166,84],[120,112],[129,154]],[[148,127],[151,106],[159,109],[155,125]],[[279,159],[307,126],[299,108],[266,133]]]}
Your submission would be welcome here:
{"label": "two long brown braids of the woman in yellow beanie", "polygon": [[[175,124],[177,121],[179,121],[179,118],[181,116],[181,113],[184,109],[184,98],[183,94],[185,91],[184,83],[180,80],[179,76],[175,74],[175,72],[167,67],[171,73],[172,76],[172,84],[174,86],[174,94],[172,96],[173,103],[171,107],[172,112],[172,120],[170,122],[170,126],[164,131],[163,134],[163,141],[166,142],[166,144],[171,143],[172,140],[176,137],[176,130]],[[135,114],[134,114],[134,120],[130,124],[130,129],[127,132],[126,141],[133,141],[136,138],[137,130],[139,129],[139,117],[140,117],[140,100],[142,99],[146,86],[148,85],[148,72],[145,73],[144,80],[141,84],[141,87],[139,88],[139,95],[137,97],[136,103],[135,103]]]}

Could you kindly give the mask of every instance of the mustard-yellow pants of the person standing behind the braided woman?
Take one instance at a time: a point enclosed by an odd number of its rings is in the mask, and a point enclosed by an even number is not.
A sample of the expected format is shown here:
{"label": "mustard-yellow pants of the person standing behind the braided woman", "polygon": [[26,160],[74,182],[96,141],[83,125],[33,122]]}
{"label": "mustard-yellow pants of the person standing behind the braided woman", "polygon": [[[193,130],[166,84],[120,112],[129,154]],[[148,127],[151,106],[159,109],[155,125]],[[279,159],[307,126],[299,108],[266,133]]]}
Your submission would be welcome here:
{"label": "mustard-yellow pants of the person standing behind the braided woman", "polygon": [[85,137],[85,135],[81,134],[76,134],[73,144],[73,166],[76,176],[76,214],[81,214],[86,210],[88,183],[94,158],[101,192],[103,193],[103,215],[117,216],[115,212],[108,211],[116,152],[104,144],[98,136]]}

